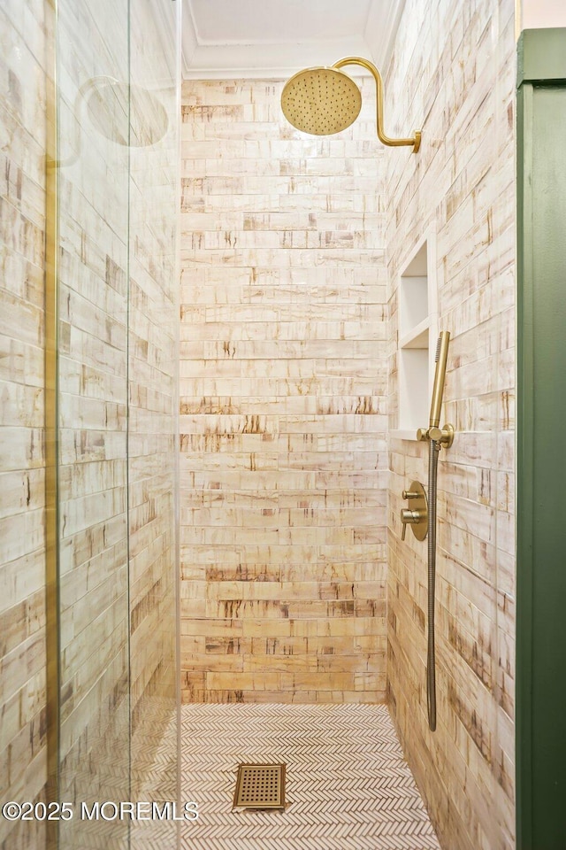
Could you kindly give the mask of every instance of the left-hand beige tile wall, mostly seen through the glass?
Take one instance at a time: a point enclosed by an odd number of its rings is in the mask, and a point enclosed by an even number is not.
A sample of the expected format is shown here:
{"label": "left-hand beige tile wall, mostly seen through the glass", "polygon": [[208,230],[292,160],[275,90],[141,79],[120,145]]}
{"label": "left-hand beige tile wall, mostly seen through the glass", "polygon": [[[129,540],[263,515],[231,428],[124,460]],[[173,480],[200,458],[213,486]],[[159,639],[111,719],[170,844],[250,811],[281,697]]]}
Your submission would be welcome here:
{"label": "left-hand beige tile wall, mostly seen through the glass", "polygon": [[[54,20],[46,12],[51,7],[45,0],[5,0],[0,10],[3,801],[37,799],[46,781],[43,309],[45,75],[54,58]],[[156,7],[153,0],[130,4],[136,16],[130,69],[134,84],[157,89],[168,112],[168,132],[159,146],[131,151],[128,171],[126,146],[98,133],[85,103],[75,101],[77,87],[97,71],[127,81],[128,4],[104,2],[92,14],[88,4],[75,0],[58,4],[63,91],[57,253],[60,781],[65,800],[87,799],[87,794],[130,799],[130,761],[135,790],[175,705],[178,110],[174,50],[165,51],[159,41],[164,30],[153,20]],[[163,0],[163,7],[169,14],[174,4]],[[169,21],[172,42],[173,30]],[[126,109],[118,116],[127,139]],[[143,112],[142,134],[154,120]],[[110,726],[119,727],[114,738],[107,734]],[[78,840],[68,823],[62,825],[62,846],[76,847]],[[80,840],[86,846],[84,831]],[[44,842],[44,822],[0,818],[0,845],[39,850]]]}

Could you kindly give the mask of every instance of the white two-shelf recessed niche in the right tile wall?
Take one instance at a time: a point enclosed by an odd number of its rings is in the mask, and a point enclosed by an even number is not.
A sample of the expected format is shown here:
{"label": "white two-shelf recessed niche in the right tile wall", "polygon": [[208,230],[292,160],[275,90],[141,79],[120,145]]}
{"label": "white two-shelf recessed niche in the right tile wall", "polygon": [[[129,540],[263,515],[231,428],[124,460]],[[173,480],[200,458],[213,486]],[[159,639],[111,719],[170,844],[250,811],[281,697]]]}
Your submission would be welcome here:
{"label": "white two-shelf recessed niche in the right tile wall", "polygon": [[424,236],[399,279],[399,421],[393,436],[416,440],[428,424],[438,336],[435,239]]}

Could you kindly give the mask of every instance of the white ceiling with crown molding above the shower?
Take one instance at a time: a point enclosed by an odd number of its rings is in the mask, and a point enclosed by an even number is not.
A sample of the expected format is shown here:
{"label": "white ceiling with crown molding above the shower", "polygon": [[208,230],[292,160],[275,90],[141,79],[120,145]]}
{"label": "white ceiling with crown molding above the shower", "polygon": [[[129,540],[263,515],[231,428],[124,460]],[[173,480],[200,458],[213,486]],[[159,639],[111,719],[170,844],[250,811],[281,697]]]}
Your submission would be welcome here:
{"label": "white ceiling with crown molding above the shower", "polygon": [[404,0],[183,0],[185,78],[281,77],[343,56],[385,66]]}

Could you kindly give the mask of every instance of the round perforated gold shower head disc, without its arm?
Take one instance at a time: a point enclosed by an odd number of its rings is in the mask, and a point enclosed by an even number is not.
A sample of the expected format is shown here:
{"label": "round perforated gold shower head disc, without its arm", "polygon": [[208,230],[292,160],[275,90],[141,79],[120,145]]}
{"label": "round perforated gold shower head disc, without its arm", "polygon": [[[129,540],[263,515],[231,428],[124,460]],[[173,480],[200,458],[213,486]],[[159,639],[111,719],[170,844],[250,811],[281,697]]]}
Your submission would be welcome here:
{"label": "round perforated gold shower head disc, without its arm", "polygon": [[356,120],[362,95],[352,78],[337,68],[307,68],[287,82],[281,108],[298,130],[330,135],[340,133]]}

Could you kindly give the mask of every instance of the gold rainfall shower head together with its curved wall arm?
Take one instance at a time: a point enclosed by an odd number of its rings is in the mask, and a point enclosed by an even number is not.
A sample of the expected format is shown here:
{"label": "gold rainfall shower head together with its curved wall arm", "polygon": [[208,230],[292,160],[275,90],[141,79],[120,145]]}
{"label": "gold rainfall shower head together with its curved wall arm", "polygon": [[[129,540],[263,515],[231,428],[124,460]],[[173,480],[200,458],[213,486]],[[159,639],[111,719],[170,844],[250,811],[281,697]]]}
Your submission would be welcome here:
{"label": "gold rainfall shower head together with its curved wall arm", "polygon": [[383,80],[369,59],[347,56],[332,67],[306,68],[287,81],[281,93],[281,109],[294,127],[312,135],[339,133],[352,124],[362,108],[362,96],[356,83],[339,69],[357,65],[373,75],[376,85],[377,130],[379,141],[389,147],[409,144],[417,153],[421,131],[413,138],[392,139],[383,130]]}

